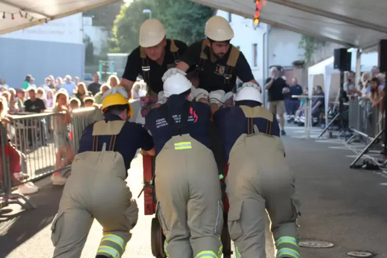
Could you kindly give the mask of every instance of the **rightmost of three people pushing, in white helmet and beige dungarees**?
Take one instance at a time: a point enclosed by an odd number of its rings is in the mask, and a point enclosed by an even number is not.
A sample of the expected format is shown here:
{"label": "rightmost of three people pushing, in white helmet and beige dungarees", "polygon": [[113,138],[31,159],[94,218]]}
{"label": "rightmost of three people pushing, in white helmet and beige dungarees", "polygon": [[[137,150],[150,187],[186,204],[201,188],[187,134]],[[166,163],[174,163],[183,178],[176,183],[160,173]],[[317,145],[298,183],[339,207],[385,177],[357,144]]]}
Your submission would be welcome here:
{"label": "rightmost of three people pushing, in white helmet and beige dungarees", "polygon": [[285,160],[278,121],[262,107],[262,96],[255,84],[244,83],[234,101],[235,106],[215,113],[214,122],[222,132],[229,163],[228,226],[236,257],[266,257],[266,209],[276,257],[300,258],[299,201],[294,174]]}

